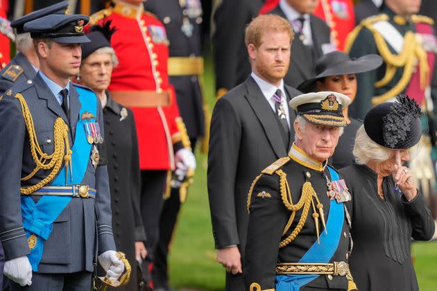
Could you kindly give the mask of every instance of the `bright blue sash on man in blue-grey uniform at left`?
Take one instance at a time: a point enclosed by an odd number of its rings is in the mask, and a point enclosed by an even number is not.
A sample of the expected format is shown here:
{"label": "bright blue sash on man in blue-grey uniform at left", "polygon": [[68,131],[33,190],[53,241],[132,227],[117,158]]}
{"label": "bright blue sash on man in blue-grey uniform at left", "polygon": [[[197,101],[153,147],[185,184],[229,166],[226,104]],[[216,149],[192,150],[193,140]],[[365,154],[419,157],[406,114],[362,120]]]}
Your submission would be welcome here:
{"label": "bright blue sash on man in blue-grey uniform at left", "polygon": [[[78,91],[78,98],[81,103],[79,116],[82,116],[85,111],[91,112],[96,116],[96,95],[87,89],[80,87],[75,87],[75,89]],[[87,121],[79,118],[76,125],[76,136],[74,145],[71,148],[73,152],[71,154],[73,179],[71,179],[70,175],[67,175],[67,184],[80,184],[85,176],[85,170],[87,170],[92,145],[87,142],[85,122],[94,122],[94,119]],[[60,170],[50,186],[65,186],[65,167]],[[40,264],[44,249],[44,241],[50,237],[51,231],[53,231],[53,222],[67,204],[69,204],[71,198],[69,196],[45,195],[35,203],[31,196],[21,196],[23,227],[26,237],[34,235],[36,238],[35,247],[31,249],[31,254],[27,255],[34,272],[38,271],[38,265]]]}

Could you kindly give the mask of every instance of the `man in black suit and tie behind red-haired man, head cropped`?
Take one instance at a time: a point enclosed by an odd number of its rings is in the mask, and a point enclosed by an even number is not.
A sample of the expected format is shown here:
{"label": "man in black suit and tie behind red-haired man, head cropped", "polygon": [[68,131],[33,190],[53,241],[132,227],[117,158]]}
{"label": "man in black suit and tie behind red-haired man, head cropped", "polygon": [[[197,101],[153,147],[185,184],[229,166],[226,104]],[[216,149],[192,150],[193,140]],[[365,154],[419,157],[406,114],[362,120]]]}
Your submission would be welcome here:
{"label": "man in black suit and tie behind red-haired man, head cropped", "polygon": [[314,77],[314,62],[325,53],[336,50],[330,42],[329,27],[325,21],[312,15],[316,0],[280,0],[269,13],[287,19],[293,27],[295,37],[291,43],[290,68],[284,82],[291,87]]}

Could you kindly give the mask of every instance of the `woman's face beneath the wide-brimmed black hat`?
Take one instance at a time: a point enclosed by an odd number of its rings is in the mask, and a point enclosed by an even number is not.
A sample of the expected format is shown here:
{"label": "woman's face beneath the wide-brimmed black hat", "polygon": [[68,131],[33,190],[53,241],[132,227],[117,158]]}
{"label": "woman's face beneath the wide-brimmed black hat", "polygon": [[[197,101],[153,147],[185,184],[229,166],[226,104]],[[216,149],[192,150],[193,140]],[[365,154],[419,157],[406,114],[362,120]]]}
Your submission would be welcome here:
{"label": "woman's face beneath the wide-brimmed black hat", "polygon": [[357,77],[354,73],[348,75],[335,75],[318,80],[317,89],[319,91],[334,91],[345,94],[352,103],[357,95]]}

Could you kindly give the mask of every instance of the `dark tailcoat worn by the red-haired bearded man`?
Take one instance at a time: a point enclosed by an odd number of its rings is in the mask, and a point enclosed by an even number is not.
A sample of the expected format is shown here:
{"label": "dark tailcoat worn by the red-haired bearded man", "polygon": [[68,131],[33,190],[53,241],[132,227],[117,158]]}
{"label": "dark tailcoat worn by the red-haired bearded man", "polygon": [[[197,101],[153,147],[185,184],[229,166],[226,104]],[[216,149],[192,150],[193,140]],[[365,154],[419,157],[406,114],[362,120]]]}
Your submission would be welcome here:
{"label": "dark tailcoat worn by the red-haired bearded man", "polygon": [[[285,86],[289,98],[299,91]],[[289,108],[293,141],[294,111]],[[286,156],[279,119],[255,80],[235,87],[218,99],[212,112],[207,169],[209,207],[216,248],[238,245],[243,254],[248,225],[247,193],[263,168]],[[243,258],[243,256],[241,257]],[[228,275],[234,290],[243,289],[243,279]]]}

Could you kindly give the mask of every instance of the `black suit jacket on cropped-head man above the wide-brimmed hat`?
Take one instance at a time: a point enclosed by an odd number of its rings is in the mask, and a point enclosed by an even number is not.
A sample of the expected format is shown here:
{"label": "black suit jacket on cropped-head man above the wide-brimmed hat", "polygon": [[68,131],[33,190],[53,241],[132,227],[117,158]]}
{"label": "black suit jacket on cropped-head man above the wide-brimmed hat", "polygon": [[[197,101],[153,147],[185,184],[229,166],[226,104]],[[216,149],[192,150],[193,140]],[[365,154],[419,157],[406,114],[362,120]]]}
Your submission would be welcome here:
{"label": "black suit jacket on cropped-head man above the wide-brimmed hat", "polygon": [[[269,13],[286,19],[279,5]],[[314,78],[314,63],[323,55],[322,45],[330,42],[330,31],[325,21],[314,15],[310,15],[309,21],[313,39],[312,51],[303,44],[299,37],[294,37],[291,42],[290,67],[284,78],[285,84],[291,87],[298,87],[303,81]]]}

